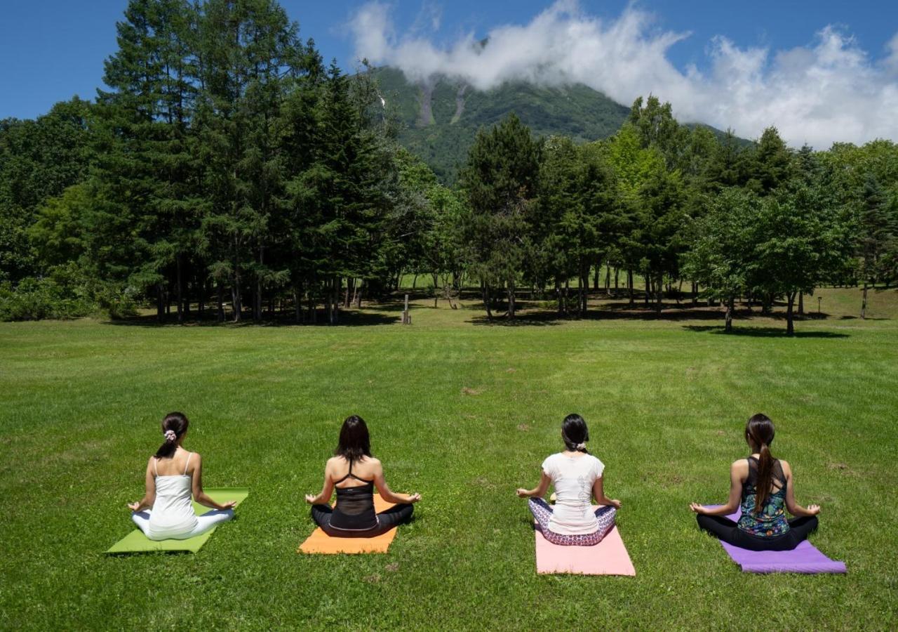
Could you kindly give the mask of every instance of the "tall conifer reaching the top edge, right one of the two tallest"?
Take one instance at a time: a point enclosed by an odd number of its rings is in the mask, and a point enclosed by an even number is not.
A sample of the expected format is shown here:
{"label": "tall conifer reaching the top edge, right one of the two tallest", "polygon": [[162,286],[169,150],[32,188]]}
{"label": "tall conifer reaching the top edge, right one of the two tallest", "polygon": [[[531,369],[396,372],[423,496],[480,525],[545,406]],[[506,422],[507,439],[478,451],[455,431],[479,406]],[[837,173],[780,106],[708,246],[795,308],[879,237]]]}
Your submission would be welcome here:
{"label": "tall conifer reaching the top edge, right one of the two tallest", "polygon": [[242,319],[244,284],[250,281],[252,315],[259,320],[267,285],[289,275],[266,252],[283,238],[287,159],[280,144],[281,108],[304,72],[305,51],[295,23],[273,0],[209,0],[199,24],[198,125],[210,193],[202,228],[209,272],[219,296],[229,281],[234,321]]}

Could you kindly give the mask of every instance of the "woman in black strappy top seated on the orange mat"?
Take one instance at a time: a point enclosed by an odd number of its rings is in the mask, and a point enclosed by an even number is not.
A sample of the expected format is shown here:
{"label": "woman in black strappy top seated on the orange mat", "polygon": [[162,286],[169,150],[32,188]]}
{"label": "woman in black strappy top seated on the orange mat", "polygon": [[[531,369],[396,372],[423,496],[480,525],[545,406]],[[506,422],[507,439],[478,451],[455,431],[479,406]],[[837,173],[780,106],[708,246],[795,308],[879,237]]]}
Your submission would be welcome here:
{"label": "woman in black strappy top seated on the orange mat", "polygon": [[[394,494],[383,479],[381,462],[371,456],[371,440],[365,420],[347,417],[339,432],[339,445],[324,468],[324,486],[317,496],[306,494],[312,518],[325,533],[336,538],[374,538],[411,518],[412,503],[421,494]],[[384,512],[374,512],[374,487],[388,503]],[[337,506],[330,495],[337,490]]]}

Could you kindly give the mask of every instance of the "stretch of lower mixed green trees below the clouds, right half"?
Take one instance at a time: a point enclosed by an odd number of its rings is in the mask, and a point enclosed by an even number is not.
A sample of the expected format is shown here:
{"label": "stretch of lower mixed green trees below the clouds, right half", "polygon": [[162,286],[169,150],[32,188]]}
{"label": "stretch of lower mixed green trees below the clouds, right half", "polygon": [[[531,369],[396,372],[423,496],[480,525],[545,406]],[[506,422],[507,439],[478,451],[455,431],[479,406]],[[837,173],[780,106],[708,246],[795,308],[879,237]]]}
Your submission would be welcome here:
{"label": "stretch of lower mixed green trees below the clouds, right half", "polygon": [[[577,146],[531,137],[511,116],[478,135],[461,190],[471,211],[464,243],[484,304],[498,289],[515,314],[515,286],[552,287],[559,311],[585,314],[589,275],[598,289],[626,275],[662,308],[683,281],[726,306],[793,309],[823,284],[867,289],[898,278],[898,147],[876,140],[829,151],[788,148],[776,128],[745,147],[684,126],[656,97],[633,103],[611,138]],[[570,291],[571,281],[576,291]]]}

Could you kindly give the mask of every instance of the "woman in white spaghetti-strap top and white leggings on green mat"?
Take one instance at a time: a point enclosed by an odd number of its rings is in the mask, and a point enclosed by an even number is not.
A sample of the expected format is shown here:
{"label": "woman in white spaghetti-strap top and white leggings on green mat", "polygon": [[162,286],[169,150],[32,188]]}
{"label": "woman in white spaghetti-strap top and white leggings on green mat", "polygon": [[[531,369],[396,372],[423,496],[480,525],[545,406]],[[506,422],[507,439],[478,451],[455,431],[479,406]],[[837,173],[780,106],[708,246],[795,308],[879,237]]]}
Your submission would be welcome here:
{"label": "woman in white spaghetti-strap top and white leggings on green mat", "polygon": [[[216,503],[203,492],[202,459],[181,447],[188,425],[184,414],[165,415],[165,442],[146,464],[146,494],[139,503],[128,503],[131,519],[149,539],[193,538],[233,518],[235,503]],[[213,511],[198,516],[191,494]]]}

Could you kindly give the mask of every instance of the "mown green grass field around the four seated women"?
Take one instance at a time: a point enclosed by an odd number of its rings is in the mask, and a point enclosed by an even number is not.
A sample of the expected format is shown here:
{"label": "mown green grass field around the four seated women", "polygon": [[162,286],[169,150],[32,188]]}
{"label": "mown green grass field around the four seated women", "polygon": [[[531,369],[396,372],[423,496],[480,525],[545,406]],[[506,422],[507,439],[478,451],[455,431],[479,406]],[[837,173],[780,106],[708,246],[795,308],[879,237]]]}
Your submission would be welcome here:
{"label": "mown green grass field around the four seated women", "polygon": [[[823,290],[797,323],[718,312],[485,325],[471,303],[346,325],[0,325],[3,628],[894,628],[898,294]],[[808,299],[815,311],[817,301]],[[249,486],[197,555],[107,558],[128,533],[158,422],[182,410],[207,486]],[[742,574],[695,527],[777,423],[812,541],[849,574]],[[516,486],[565,414],[620,498],[636,577],[537,576]],[[369,423],[397,490],[420,492],[386,556],[301,556],[339,423]]]}

